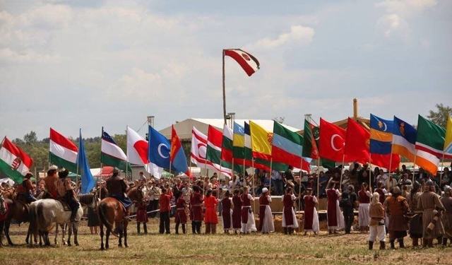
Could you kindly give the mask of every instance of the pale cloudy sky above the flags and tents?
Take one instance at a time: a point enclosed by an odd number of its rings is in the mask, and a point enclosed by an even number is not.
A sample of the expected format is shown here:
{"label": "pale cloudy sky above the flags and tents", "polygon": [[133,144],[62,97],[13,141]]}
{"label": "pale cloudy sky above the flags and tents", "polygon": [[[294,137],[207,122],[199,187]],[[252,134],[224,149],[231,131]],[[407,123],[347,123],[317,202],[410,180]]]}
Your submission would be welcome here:
{"label": "pale cloudy sky above the flags and tents", "polygon": [[[222,118],[319,122],[452,105],[452,1],[0,0],[0,137]],[[145,129],[140,133],[145,134]]]}

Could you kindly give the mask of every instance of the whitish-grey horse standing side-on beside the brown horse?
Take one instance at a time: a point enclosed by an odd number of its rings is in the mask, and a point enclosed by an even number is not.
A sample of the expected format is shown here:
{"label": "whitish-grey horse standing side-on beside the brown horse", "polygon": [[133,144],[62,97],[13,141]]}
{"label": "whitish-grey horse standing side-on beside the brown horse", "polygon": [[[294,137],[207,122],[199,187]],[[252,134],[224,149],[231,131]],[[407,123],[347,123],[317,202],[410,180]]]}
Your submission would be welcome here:
{"label": "whitish-grey horse standing side-on beside the brown horse", "polygon": [[[71,235],[74,233],[74,244],[78,246],[77,234],[78,234],[78,224],[83,216],[82,206],[87,206],[91,208],[97,208],[99,199],[97,199],[93,194],[85,194],[78,196],[79,207],[76,213],[76,222],[71,223],[71,211],[65,211],[64,206],[60,201],[54,199],[42,199],[30,204],[30,225],[40,233],[44,240],[44,245],[49,246],[49,231],[52,230],[54,224],[57,224],[55,228],[55,245],[58,244],[58,227],[60,226],[62,231],[62,243],[63,245],[71,246]],[[68,232],[68,242],[65,240],[66,234],[66,224],[69,224]],[[30,245],[32,243],[30,242]],[[40,238],[40,245],[42,245]]]}

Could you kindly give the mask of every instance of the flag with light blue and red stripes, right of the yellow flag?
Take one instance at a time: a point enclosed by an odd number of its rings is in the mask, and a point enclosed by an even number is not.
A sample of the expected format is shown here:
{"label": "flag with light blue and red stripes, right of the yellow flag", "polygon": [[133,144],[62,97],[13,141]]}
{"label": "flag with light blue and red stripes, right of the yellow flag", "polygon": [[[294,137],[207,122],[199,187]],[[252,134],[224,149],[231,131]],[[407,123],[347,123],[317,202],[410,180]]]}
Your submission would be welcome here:
{"label": "flag with light blue and red stripes, right of the yellow flag", "polygon": [[303,154],[303,136],[290,131],[278,122],[273,122],[273,163],[285,163],[293,167],[302,167],[309,172],[310,160],[304,160]]}

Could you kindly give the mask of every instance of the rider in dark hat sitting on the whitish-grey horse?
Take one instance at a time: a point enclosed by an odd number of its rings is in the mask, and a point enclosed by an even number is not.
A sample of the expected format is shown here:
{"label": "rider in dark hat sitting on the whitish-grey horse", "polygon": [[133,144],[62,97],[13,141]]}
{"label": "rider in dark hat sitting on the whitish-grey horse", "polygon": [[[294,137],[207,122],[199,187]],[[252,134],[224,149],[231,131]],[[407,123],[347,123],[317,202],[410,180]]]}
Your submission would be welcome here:
{"label": "rider in dark hat sitting on the whitish-grey horse", "polygon": [[76,222],[76,215],[80,204],[78,204],[76,193],[74,192],[74,187],[71,179],[68,177],[69,171],[66,168],[61,167],[58,172],[57,179],[57,191],[58,196],[61,201],[65,201],[71,209],[71,222]]}

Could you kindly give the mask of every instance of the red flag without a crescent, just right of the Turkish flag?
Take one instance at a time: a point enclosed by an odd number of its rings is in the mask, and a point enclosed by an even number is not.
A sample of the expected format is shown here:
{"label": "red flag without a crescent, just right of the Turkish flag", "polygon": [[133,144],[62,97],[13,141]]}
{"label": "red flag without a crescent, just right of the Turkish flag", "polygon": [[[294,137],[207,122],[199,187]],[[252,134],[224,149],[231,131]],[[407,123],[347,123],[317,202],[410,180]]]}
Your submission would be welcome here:
{"label": "red flag without a crescent, just right of the Turkish flag", "polygon": [[369,163],[370,133],[353,119],[348,118],[345,155],[359,163]]}

